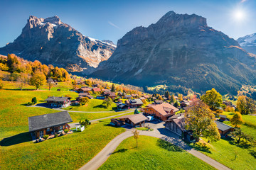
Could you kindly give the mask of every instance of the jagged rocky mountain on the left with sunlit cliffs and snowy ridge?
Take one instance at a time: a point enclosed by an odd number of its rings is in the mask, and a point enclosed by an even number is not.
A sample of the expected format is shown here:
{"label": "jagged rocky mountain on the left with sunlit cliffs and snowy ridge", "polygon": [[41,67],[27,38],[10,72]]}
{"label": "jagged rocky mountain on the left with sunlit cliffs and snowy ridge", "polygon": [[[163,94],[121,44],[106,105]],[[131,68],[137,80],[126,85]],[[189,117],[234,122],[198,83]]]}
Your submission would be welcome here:
{"label": "jagged rocky mountain on the left with sunlit cliffs and snowy ridge", "polygon": [[92,72],[108,60],[116,46],[82,35],[58,16],[30,16],[21,35],[0,48],[0,54],[14,53],[26,60],[65,67],[71,72]]}

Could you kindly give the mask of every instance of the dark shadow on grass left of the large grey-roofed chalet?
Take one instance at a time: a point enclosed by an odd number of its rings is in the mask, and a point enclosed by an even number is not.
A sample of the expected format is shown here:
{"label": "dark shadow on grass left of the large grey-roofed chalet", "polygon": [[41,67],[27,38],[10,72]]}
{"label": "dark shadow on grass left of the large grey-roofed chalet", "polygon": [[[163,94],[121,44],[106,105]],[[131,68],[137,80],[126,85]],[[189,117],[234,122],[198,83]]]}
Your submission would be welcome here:
{"label": "dark shadow on grass left of the large grey-roofed chalet", "polygon": [[4,140],[1,140],[0,146],[8,147],[11,145],[16,145],[16,144],[20,144],[23,142],[29,142],[29,141],[31,141],[30,132],[23,132],[18,135],[4,138]]}

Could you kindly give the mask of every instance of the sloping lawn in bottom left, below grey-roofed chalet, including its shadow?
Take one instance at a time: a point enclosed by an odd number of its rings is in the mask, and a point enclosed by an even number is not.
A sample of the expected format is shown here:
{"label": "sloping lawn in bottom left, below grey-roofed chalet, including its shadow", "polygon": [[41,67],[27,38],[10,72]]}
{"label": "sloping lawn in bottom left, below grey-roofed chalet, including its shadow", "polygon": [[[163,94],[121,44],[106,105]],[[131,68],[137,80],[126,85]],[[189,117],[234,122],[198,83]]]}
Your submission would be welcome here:
{"label": "sloping lawn in bottom left, below grey-roofed chalet, including its shadow", "polygon": [[110,119],[88,126],[83,132],[33,143],[29,133],[1,142],[1,169],[78,169],[95,157],[107,143],[124,132]]}

